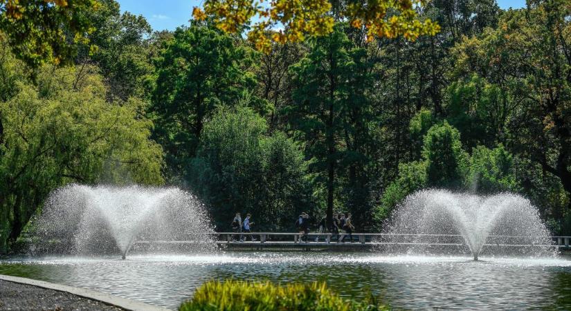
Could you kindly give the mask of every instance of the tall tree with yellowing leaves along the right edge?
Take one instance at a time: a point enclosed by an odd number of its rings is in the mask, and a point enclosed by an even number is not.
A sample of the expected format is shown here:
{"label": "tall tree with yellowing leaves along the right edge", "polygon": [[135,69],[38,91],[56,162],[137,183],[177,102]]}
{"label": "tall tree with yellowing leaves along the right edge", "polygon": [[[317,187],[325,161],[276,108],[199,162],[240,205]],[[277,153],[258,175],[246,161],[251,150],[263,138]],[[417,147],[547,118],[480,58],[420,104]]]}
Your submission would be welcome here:
{"label": "tall tree with yellowing leaves along the right edge", "polygon": [[571,4],[529,1],[498,28],[453,50],[454,77],[477,73],[511,97],[507,147],[541,165],[571,192]]}

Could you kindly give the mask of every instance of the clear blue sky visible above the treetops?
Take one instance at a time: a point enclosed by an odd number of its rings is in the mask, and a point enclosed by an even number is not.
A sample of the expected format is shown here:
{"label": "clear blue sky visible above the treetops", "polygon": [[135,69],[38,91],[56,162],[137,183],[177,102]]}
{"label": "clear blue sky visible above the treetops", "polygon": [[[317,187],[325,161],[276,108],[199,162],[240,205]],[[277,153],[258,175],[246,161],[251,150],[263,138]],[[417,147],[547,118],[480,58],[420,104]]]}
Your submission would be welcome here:
{"label": "clear blue sky visible above the treetops", "polygon": [[[118,0],[121,10],[143,15],[154,30],[174,30],[187,25],[193,6],[202,0]],[[500,8],[523,8],[525,0],[498,0]]]}

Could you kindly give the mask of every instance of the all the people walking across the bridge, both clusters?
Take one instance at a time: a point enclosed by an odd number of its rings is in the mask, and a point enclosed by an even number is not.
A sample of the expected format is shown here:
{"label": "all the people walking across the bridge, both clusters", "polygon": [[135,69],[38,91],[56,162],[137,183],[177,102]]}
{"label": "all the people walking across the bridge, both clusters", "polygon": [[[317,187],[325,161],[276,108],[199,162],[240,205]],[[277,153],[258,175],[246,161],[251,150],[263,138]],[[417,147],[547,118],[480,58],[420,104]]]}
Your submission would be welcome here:
{"label": "all the people walking across the bridge, both clusters", "polygon": [[[244,218],[244,220],[242,220],[242,216],[240,213],[235,214],[231,226],[233,232],[235,232],[236,234],[233,236],[232,241],[244,242],[246,241],[248,236],[250,236],[252,241],[256,241],[254,236],[251,234],[251,226],[254,225],[251,218],[252,215],[249,213],[246,214],[246,218]],[[300,216],[298,216],[298,219],[296,220],[296,228],[298,229],[298,232],[300,234],[303,234],[301,239],[306,243],[309,242],[307,237],[309,234],[310,227],[311,223],[309,221],[309,214],[307,214],[304,211],[302,212],[302,214],[300,214]],[[332,241],[334,241],[334,238],[336,238],[336,241],[338,243],[344,243],[345,237],[349,236],[349,241],[353,243],[354,229],[355,226],[353,225],[351,220],[351,213],[345,213],[345,214],[335,213],[333,214],[333,221],[332,224],[329,225],[329,228],[327,228],[327,221],[325,216],[321,218],[321,220],[319,221],[318,233],[325,234],[325,232],[327,232],[328,230],[329,232],[332,233]],[[319,241],[319,236],[315,238],[315,241],[316,242]]]}

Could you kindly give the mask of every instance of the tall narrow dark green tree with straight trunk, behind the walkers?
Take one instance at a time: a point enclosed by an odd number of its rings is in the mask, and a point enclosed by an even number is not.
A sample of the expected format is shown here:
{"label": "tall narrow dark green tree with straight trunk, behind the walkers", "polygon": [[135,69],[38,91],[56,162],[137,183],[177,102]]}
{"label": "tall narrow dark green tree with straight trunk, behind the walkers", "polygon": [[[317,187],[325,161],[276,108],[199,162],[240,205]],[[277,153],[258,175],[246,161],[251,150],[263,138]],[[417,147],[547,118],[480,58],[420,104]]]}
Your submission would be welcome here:
{"label": "tall narrow dark green tree with straight trunk, behind the walkers", "polygon": [[368,124],[369,103],[363,88],[370,77],[362,68],[364,53],[352,46],[342,29],[311,41],[308,55],[292,66],[293,103],[287,107],[291,129],[305,142],[306,157],[314,160],[309,169],[325,185],[328,221],[339,173],[363,162],[361,140]]}

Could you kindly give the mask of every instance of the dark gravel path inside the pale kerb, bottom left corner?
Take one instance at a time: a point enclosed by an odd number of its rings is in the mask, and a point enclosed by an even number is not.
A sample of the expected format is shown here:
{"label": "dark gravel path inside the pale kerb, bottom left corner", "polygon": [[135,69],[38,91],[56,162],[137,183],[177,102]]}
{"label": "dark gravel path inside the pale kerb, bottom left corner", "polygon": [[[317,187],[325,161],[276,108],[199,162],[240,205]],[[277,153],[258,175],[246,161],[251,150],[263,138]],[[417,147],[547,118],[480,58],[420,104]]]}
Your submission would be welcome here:
{"label": "dark gravel path inside the pale kerb, bottom left corner", "polygon": [[124,309],[68,292],[0,280],[0,310],[123,311]]}

